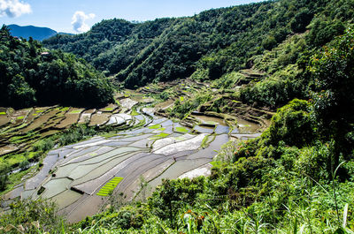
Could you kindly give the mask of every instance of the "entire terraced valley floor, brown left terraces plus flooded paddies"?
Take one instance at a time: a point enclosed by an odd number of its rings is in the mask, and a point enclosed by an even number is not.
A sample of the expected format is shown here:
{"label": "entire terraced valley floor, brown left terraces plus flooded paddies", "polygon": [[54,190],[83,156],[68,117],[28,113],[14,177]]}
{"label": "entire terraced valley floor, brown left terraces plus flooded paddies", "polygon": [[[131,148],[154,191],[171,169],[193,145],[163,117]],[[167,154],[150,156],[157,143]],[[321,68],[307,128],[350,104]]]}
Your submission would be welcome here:
{"label": "entire terraced valley floor, brown left terraces plus flooded paddies", "polygon": [[[58,204],[58,214],[69,223],[77,223],[103,211],[111,196],[122,203],[145,200],[164,178],[210,175],[210,162],[222,145],[229,140],[256,138],[266,128],[266,115],[260,118],[262,121],[250,122],[247,117],[194,111],[182,120],[169,119],[165,109],[171,109],[176,100],[194,95],[184,93],[185,87],[208,90],[191,80],[179,83],[183,85],[159,84],[159,91],[156,86],[124,90],[115,94],[115,104],[101,109],[4,109],[6,115],[0,117],[4,158],[33,150],[38,140],[73,125],[102,129],[88,140],[46,153],[40,167],[35,164],[11,192],[4,194],[4,211],[16,199],[49,199]],[[178,94],[175,100],[161,102],[153,98],[171,87]],[[31,158],[27,160],[31,162]],[[117,177],[121,181],[107,192],[104,188]],[[143,187],[142,181],[146,182]]]}

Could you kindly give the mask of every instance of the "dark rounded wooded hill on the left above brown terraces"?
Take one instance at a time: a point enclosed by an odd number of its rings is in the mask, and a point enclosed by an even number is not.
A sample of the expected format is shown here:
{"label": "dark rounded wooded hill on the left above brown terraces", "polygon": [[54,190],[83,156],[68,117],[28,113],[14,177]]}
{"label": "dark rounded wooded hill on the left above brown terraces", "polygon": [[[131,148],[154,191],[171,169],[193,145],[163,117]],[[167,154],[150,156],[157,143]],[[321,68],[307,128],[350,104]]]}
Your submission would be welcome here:
{"label": "dark rounded wooded hill on the left above brown terraces", "polygon": [[40,42],[12,37],[0,30],[0,106],[96,106],[112,102],[112,86],[102,72]]}

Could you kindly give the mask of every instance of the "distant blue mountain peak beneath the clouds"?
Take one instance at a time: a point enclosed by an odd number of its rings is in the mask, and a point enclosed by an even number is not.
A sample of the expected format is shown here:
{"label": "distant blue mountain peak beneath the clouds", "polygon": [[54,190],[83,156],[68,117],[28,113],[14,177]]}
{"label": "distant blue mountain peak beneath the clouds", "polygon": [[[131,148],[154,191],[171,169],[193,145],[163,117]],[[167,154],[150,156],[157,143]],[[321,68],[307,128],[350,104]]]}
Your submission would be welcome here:
{"label": "distant blue mountain peak beneath the clouds", "polygon": [[66,33],[58,33],[57,31],[50,29],[49,27],[41,27],[41,26],[9,25],[9,27],[12,36],[19,36],[26,39],[29,39],[29,37],[31,36],[33,39],[38,41],[48,39],[56,34],[66,34]]}

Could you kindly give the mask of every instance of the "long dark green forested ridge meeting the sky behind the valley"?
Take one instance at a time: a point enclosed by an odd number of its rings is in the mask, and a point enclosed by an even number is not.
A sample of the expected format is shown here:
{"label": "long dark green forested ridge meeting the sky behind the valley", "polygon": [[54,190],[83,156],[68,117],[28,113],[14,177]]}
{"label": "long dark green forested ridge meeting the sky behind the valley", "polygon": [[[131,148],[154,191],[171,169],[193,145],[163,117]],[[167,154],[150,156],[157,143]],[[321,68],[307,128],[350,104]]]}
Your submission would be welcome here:
{"label": "long dark green forested ridge meeting the sky behind the valley", "polygon": [[[137,24],[111,19],[86,34],[57,35],[44,44],[87,59],[125,81],[126,87],[192,74],[218,79],[250,67],[251,57],[273,49],[291,34],[304,33],[306,27],[312,28],[308,39],[312,46],[329,42],[343,32],[342,22],[352,19],[351,6],[351,1],[282,0]],[[296,55],[291,59],[295,61]]]}

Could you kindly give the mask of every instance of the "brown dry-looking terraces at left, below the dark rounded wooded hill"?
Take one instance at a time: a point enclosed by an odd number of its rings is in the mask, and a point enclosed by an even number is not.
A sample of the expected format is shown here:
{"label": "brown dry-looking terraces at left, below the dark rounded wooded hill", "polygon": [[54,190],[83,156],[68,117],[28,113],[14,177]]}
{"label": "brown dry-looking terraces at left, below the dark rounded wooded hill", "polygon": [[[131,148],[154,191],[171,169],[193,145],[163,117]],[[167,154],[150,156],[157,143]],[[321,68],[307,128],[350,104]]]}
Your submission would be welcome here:
{"label": "brown dry-looking terraces at left, below the dark rounded wooded hill", "polygon": [[[119,106],[110,104],[103,110],[58,106],[19,110],[0,108],[0,155],[23,153],[36,140],[54,135],[77,123],[104,125],[112,115],[119,112]],[[122,119],[120,125],[126,122],[126,119]]]}

